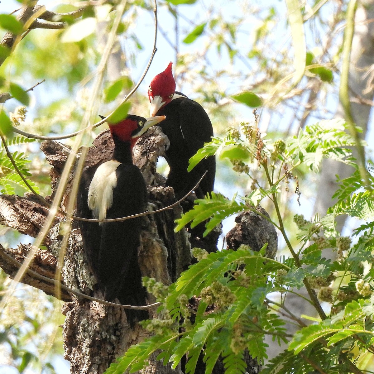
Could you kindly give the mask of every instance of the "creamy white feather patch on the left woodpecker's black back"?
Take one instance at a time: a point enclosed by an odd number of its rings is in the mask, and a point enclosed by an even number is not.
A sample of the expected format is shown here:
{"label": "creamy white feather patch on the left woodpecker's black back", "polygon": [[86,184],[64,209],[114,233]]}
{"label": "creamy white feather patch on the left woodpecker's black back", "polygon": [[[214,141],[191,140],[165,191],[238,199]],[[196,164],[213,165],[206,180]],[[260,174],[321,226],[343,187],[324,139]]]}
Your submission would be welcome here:
{"label": "creamy white feather patch on the left woodpecker's black back", "polygon": [[113,205],[113,189],[117,186],[116,170],[120,162],[110,160],[102,163],[93,175],[88,188],[88,207],[93,218],[105,220],[107,210]]}

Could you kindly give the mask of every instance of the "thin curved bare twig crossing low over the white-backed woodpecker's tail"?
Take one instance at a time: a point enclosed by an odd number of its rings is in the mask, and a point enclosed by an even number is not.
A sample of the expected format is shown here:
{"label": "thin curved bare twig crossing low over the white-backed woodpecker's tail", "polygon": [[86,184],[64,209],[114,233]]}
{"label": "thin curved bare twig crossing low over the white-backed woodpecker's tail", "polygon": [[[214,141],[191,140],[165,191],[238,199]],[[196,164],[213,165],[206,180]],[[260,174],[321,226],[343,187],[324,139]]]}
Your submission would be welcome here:
{"label": "thin curved bare twig crossing low over the white-backed woodpecker's tail", "polygon": [[[22,265],[17,260],[15,260],[12,256],[10,256],[9,254],[5,253],[3,251],[3,247],[2,246],[0,248],[0,256],[3,257],[3,258],[5,258],[7,261],[10,261],[12,264],[14,264],[18,268],[20,268],[21,265]],[[111,303],[110,301],[98,299],[96,297],[83,294],[82,292],[75,291],[74,289],[71,289],[71,288],[65,286],[63,283],[61,283],[57,279],[52,279],[52,278],[46,277],[44,275],[41,275],[41,274],[35,272],[34,270],[26,269],[26,272],[29,275],[33,276],[34,278],[40,279],[42,281],[45,281],[45,282],[48,282],[48,283],[51,283],[51,284],[57,284],[58,283],[59,287],[61,287],[65,291],[70,292],[70,293],[72,293],[72,294],[74,294],[74,295],[76,295],[78,297],[82,297],[82,298],[85,298],[85,299],[88,299],[88,300],[91,300],[91,301],[97,301],[100,304],[104,304],[104,305],[108,305],[108,306],[121,307],[121,308],[125,308],[125,309],[145,310],[145,309],[150,309],[150,308],[152,308],[154,306],[158,306],[160,304],[159,302],[157,302],[157,303],[153,303],[153,304],[149,304],[149,305],[144,305],[144,306],[132,306],[132,305],[126,305],[126,304]]]}

